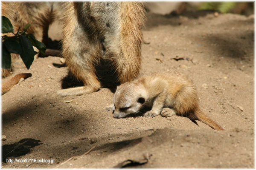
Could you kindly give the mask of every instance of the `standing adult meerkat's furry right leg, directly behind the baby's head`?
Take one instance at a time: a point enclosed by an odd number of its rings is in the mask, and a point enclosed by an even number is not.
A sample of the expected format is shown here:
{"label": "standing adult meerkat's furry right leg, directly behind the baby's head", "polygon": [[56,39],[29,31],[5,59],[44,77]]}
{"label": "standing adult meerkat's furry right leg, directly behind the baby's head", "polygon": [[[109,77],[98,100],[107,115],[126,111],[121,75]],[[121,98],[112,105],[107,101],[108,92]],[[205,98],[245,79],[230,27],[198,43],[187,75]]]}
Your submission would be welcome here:
{"label": "standing adult meerkat's furry right leg, directly behind the baby's head", "polygon": [[134,80],[140,72],[145,10],[143,3],[120,2],[119,6],[119,37],[112,46],[117,53],[112,59],[119,81],[124,83]]}

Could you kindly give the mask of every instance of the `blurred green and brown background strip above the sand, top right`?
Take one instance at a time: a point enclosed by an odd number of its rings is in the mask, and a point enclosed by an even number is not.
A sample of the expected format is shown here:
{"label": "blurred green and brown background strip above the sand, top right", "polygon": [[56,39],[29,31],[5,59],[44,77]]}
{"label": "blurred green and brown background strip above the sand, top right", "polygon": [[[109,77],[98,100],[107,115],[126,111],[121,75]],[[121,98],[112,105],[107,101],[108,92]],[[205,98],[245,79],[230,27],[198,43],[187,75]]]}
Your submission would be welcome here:
{"label": "blurred green and brown background strip above the sand, top right", "polygon": [[249,16],[254,13],[254,2],[150,2],[147,10],[162,15],[203,10]]}

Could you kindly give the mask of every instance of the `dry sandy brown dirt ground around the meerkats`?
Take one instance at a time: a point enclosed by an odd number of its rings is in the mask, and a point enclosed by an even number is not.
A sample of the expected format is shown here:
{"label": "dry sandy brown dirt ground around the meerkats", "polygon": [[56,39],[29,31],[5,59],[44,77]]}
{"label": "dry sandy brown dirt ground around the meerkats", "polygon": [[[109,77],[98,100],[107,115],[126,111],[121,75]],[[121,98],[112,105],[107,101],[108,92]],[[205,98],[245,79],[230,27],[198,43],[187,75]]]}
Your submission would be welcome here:
{"label": "dry sandy brown dirt ground around the meerkats", "polygon": [[2,167],[253,168],[253,26],[253,15],[147,14],[141,75],[169,68],[188,74],[202,111],[224,131],[179,116],[114,119],[105,111],[113,89],[54,98],[74,85],[60,58],[35,58],[29,70],[17,59],[14,74],[32,77],[2,96]]}

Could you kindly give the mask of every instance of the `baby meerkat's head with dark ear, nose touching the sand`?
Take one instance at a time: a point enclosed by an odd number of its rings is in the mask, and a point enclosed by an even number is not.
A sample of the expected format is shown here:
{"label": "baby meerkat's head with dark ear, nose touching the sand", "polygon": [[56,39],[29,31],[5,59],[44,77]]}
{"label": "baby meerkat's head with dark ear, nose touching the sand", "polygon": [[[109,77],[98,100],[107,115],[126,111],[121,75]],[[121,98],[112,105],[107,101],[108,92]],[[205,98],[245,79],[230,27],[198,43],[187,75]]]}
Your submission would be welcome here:
{"label": "baby meerkat's head with dark ear, nose touching the sand", "polygon": [[143,85],[126,82],[116,88],[114,94],[114,118],[124,118],[137,113],[147,100],[147,92]]}

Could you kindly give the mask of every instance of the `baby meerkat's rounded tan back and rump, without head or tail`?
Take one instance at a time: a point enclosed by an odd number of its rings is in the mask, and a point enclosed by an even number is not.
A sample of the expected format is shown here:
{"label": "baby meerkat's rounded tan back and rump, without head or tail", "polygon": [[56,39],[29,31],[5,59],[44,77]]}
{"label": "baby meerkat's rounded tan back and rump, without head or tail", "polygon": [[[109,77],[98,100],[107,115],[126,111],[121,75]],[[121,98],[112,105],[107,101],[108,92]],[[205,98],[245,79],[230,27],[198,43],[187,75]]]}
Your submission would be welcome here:
{"label": "baby meerkat's rounded tan back and rump, without head or tail", "polygon": [[[187,106],[186,111],[188,111],[198,105],[198,96],[194,83],[186,75],[175,70],[150,74],[134,82],[142,83],[152,97],[160,93],[166,94],[163,107],[173,107],[174,103],[182,103],[177,107]],[[177,114],[184,116],[182,112],[186,111],[177,109]]]}

